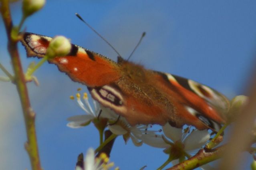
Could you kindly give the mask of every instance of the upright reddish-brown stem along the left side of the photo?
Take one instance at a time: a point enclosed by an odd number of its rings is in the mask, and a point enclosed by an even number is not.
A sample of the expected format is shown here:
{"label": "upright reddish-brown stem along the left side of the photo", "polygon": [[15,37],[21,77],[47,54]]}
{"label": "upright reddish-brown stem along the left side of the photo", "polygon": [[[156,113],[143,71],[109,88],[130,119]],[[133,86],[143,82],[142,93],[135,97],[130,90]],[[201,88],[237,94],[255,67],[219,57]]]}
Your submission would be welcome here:
{"label": "upright reddish-brown stem along the left side of the photo", "polygon": [[36,141],[36,128],[35,128],[35,113],[30,106],[28,98],[28,90],[26,87],[26,81],[23,74],[22,65],[17,48],[17,39],[14,40],[12,36],[12,18],[10,15],[10,8],[8,0],[1,0],[0,12],[6,28],[6,34],[8,37],[8,51],[10,53],[12,68],[14,70],[14,83],[16,84],[20,101],[22,105],[23,116],[26,124],[26,132],[28,141],[25,143],[25,148],[28,152],[30,163],[33,170],[41,170],[38,146]]}

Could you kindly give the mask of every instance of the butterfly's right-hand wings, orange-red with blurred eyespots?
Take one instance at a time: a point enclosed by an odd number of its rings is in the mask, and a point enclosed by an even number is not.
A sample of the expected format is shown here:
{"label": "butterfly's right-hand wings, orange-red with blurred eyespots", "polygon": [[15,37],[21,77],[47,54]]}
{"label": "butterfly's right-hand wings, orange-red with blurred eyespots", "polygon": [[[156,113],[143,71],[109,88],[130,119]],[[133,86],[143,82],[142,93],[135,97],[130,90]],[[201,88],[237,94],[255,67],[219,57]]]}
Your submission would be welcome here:
{"label": "butterfly's right-hand wings, orange-red with blurred eyespots", "polygon": [[175,103],[175,114],[182,120],[175,124],[194,125],[198,129],[206,127],[218,131],[220,124],[225,123],[225,114],[230,103],[228,99],[218,91],[202,85],[196,81],[185,79],[169,73],[155,71],[153,76],[155,85],[165,94],[169,94],[169,100]]}

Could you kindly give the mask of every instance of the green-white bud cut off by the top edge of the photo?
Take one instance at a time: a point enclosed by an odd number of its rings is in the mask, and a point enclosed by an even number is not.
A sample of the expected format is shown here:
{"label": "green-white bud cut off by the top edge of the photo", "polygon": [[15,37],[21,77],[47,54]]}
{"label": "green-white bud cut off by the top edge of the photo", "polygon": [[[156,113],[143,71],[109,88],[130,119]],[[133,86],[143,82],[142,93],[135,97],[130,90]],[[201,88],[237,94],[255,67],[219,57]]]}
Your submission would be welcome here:
{"label": "green-white bud cut off by the top edge of the photo", "polygon": [[40,10],[45,4],[45,0],[23,0],[22,11],[25,17]]}

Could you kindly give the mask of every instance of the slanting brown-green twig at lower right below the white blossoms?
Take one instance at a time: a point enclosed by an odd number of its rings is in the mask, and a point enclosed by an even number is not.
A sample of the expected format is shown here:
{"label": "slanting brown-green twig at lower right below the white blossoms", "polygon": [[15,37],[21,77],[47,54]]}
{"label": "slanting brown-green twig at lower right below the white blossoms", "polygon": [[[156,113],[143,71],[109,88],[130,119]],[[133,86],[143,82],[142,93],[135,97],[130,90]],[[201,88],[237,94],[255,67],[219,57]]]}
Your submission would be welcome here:
{"label": "slanting brown-green twig at lower right below the white blossoms", "polygon": [[219,159],[224,154],[224,150],[226,150],[226,145],[219,146],[218,148],[209,151],[201,149],[196,155],[167,170],[191,170],[198,168],[199,166],[207,164],[208,162]]}

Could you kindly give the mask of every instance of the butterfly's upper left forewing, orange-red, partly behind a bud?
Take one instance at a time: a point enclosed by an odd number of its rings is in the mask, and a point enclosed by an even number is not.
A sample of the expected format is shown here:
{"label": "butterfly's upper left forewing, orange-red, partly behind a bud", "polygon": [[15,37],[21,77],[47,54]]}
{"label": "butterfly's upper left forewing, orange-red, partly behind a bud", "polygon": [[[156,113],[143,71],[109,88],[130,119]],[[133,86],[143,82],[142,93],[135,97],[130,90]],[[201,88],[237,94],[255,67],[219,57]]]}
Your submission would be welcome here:
{"label": "butterfly's upper left forewing, orange-red, partly behind a bud", "polygon": [[[50,40],[50,37],[26,32],[21,42],[29,57],[41,58],[44,57]],[[73,81],[88,87],[103,86],[121,77],[117,63],[74,44],[67,56],[55,57],[48,61],[56,64],[58,69],[69,75]]]}

